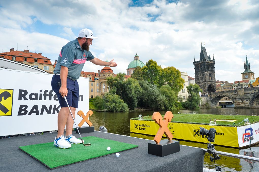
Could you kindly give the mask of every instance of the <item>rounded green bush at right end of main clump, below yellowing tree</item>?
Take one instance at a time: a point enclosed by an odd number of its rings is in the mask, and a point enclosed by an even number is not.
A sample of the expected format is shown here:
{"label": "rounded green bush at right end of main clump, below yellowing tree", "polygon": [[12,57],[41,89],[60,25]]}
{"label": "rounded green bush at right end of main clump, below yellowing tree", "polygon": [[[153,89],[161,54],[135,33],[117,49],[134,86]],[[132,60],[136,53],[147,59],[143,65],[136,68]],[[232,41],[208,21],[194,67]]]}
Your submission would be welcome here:
{"label": "rounded green bush at right end of main clump, below yellowing tree", "polygon": [[176,110],[175,102],[177,100],[177,96],[175,92],[172,90],[172,88],[169,85],[163,85],[159,89],[160,93],[166,97],[164,108],[165,110]]}

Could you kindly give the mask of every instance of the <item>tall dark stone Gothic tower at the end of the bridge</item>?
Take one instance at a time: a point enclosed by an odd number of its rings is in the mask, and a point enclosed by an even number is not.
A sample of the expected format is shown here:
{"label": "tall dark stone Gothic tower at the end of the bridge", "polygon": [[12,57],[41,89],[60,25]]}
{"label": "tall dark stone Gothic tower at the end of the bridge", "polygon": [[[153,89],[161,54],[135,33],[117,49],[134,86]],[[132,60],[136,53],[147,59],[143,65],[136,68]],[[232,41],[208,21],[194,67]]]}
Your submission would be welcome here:
{"label": "tall dark stone Gothic tower at the end of the bridge", "polygon": [[215,59],[211,60],[210,54],[207,55],[205,44],[200,50],[200,60],[193,61],[195,70],[195,83],[200,86],[203,93],[211,93],[216,91],[215,78]]}

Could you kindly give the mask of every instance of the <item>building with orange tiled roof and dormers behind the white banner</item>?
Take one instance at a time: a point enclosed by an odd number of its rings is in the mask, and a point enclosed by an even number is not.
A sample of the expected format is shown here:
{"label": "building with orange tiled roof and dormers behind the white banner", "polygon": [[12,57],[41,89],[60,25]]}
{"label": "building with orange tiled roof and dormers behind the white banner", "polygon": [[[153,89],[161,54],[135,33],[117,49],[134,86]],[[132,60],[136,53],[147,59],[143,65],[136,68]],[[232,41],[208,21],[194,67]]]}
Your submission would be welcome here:
{"label": "building with orange tiled roof and dormers behind the white banner", "polygon": [[53,73],[53,65],[50,59],[42,56],[41,53],[33,53],[29,52],[29,50],[15,51],[13,48],[11,48],[10,52],[0,53],[0,58],[17,61],[42,69],[48,73]]}

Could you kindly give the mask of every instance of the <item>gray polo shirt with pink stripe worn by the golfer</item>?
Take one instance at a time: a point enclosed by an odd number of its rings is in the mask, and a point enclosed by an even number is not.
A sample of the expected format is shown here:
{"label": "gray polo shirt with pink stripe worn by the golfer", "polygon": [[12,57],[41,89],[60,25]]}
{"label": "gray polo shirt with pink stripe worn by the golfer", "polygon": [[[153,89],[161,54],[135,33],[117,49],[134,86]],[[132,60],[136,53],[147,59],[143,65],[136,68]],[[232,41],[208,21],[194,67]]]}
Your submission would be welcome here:
{"label": "gray polo shirt with pink stripe worn by the golfer", "polygon": [[77,80],[80,77],[85,61],[94,58],[90,51],[81,48],[76,38],[62,47],[53,73],[60,74],[61,66],[65,66],[68,68],[67,77]]}

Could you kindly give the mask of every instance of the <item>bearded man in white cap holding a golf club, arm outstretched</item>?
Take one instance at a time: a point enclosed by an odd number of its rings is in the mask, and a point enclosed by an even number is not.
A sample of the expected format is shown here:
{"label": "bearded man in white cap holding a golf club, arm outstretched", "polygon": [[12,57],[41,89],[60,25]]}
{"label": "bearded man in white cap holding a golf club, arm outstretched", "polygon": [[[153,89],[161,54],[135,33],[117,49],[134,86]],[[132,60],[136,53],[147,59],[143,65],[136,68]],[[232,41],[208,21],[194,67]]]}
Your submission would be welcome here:
{"label": "bearded man in white cap holding a golf club, arm outstretched", "polygon": [[[51,86],[55,91],[60,104],[60,111],[57,115],[57,136],[54,139],[54,145],[60,148],[70,148],[71,144],[80,144],[82,140],[72,135],[73,118],[69,115],[69,108],[64,100],[66,96],[68,105],[75,118],[75,111],[78,108],[79,89],[77,79],[80,77],[81,71],[86,61],[91,61],[95,65],[115,67],[117,64],[113,62],[102,61],[92,55],[89,51],[92,40],[97,37],[93,36],[90,29],[82,29],[78,34],[78,38],[70,41],[62,47],[56,67],[53,71]],[[61,87],[57,84],[61,82]],[[66,126],[66,135],[64,136],[64,128]]]}

